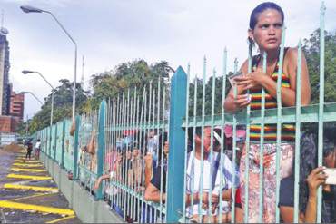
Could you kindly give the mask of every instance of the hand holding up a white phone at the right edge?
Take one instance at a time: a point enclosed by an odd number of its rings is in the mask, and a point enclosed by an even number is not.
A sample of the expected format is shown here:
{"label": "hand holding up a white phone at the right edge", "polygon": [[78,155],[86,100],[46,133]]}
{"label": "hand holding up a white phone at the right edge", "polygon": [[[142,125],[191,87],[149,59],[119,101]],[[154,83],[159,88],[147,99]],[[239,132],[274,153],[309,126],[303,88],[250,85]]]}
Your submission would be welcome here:
{"label": "hand holding up a white phone at the right edge", "polygon": [[316,196],[317,189],[320,187],[321,184],[325,183],[327,179],[327,174],[323,173],[325,167],[318,167],[311,171],[307,178],[308,188],[309,188],[309,195]]}

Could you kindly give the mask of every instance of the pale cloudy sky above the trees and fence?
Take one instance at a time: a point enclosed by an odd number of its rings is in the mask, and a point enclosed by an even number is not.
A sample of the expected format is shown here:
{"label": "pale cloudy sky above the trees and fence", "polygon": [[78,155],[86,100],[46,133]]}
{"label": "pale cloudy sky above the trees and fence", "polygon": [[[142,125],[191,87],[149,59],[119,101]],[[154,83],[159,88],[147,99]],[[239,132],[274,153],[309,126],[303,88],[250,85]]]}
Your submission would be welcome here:
{"label": "pale cloudy sky above the trees and fence", "polygon": [[[0,0],[4,26],[10,44],[10,81],[15,92],[33,92],[44,101],[50,87],[60,79],[74,80],[74,44],[52,16],[25,14],[20,5],[32,5],[52,12],[78,45],[77,82],[82,56],[84,83],[90,76],[112,70],[119,63],[144,59],[148,63],[167,61],[173,68],[191,64],[192,77],[202,75],[203,58],[207,75],[222,74],[222,54],[228,50],[228,66],[234,58],[247,56],[247,29],[258,0]],[[320,24],[319,0],[274,1],[285,14],[286,45],[295,46]],[[326,30],[336,30],[336,0],[324,1]],[[40,104],[25,96],[25,118],[33,117]]]}

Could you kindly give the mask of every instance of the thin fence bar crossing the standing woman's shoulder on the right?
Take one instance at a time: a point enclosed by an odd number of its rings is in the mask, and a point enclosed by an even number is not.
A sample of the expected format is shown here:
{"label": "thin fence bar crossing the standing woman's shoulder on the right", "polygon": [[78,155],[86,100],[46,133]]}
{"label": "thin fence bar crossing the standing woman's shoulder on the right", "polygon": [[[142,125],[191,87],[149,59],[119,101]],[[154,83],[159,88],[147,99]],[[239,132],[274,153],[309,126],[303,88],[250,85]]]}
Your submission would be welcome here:
{"label": "thin fence bar crossing the standing woman's shoulder on the right", "polygon": [[296,73],[296,122],[295,122],[295,178],[294,178],[294,222],[299,222],[299,179],[300,179],[300,136],[301,136],[301,40],[298,44]]}

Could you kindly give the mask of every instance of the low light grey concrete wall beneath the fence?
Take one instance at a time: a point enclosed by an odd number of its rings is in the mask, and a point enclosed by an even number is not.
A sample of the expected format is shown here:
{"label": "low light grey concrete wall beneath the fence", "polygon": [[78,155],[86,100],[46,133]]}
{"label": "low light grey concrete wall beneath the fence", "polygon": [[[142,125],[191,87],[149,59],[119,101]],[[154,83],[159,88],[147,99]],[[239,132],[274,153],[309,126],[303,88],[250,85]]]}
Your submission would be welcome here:
{"label": "low light grey concrete wall beneath the fence", "polygon": [[122,223],[123,219],[119,218],[110,209],[104,201],[96,201],[94,197],[84,190],[80,184],[73,180],[68,180],[67,172],[60,166],[44,156],[41,153],[40,160],[44,162],[45,168],[49,171],[58,186],[58,189],[64,194],[69,201],[70,208],[74,209],[77,217],[84,223]]}

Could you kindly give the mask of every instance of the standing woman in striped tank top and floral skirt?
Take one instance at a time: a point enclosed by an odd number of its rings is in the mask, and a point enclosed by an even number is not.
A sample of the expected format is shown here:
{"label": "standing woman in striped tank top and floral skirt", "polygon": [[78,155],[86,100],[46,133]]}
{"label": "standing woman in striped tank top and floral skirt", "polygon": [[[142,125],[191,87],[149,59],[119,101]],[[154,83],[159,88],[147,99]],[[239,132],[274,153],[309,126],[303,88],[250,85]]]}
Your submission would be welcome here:
{"label": "standing woman in striped tank top and floral skirt", "polygon": [[[233,90],[230,90],[224,107],[227,112],[237,112],[247,105],[251,105],[251,110],[261,109],[262,88],[265,90],[266,108],[276,108],[276,86],[279,69],[279,54],[282,37],[282,25],[284,15],[282,8],[274,3],[262,3],[253,9],[250,17],[250,28],[248,36],[250,49],[252,44],[257,44],[260,54],[253,57],[252,73],[248,73],[248,61],[242,64],[243,75],[235,79],[237,83],[237,96],[234,97]],[[262,72],[262,54],[267,53],[267,72]],[[297,69],[296,48],[286,48],[282,66],[282,106],[289,107],[295,105],[296,91],[296,69]],[[311,101],[311,86],[307,63],[302,57],[301,64],[301,104],[307,105]],[[250,94],[246,94],[250,90]],[[240,164],[241,178],[241,200],[242,209],[244,207],[245,184],[245,157],[249,156],[249,222],[258,222],[259,218],[259,175],[260,175],[260,125],[251,125],[251,145],[250,155],[242,151]],[[263,222],[275,222],[275,189],[276,189],[276,125],[265,125],[264,128],[264,161],[263,161]],[[281,178],[292,174],[292,162],[294,151],[295,127],[292,124],[282,124],[282,144],[281,144]]]}

